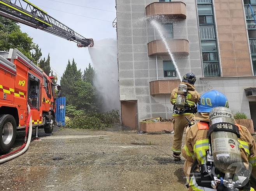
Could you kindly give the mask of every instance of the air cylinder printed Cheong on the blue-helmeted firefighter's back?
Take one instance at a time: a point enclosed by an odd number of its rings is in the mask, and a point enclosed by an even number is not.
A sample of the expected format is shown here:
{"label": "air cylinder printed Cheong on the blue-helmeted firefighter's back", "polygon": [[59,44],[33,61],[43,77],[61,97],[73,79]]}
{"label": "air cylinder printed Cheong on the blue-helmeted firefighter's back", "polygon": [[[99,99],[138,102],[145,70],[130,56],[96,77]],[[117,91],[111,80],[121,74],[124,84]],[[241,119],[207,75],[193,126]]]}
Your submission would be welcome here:
{"label": "air cylinder printed Cheong on the blue-helmeted firefighter's back", "polygon": [[[215,107],[210,112],[210,126],[217,128],[233,128],[233,114],[229,108]],[[210,127],[211,128],[211,127]],[[215,167],[223,173],[234,174],[236,167],[232,165],[242,162],[237,134],[228,131],[214,131],[210,134],[212,155]]]}

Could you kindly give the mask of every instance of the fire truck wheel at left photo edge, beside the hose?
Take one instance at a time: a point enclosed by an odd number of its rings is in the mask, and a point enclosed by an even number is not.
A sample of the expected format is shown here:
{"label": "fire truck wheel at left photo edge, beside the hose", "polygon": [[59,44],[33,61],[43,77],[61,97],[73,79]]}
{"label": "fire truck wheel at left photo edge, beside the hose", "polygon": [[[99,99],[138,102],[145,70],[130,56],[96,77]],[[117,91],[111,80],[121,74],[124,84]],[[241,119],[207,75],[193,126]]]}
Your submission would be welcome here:
{"label": "fire truck wheel at left photo edge, beside the hose", "polygon": [[12,115],[0,115],[0,153],[8,153],[16,139],[16,120]]}

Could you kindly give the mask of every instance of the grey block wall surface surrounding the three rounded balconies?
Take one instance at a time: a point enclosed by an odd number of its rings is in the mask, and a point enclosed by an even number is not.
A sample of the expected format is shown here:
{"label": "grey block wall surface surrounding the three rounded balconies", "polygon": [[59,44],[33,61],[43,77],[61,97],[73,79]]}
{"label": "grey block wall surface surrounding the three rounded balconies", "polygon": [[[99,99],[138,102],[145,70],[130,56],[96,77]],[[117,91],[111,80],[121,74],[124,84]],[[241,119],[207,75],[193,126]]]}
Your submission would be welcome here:
{"label": "grey block wall surface surrounding the three rounded balconies", "polygon": [[[177,0],[179,1],[179,0]],[[154,28],[147,23],[145,8],[158,0],[116,0],[117,9],[117,43],[119,64],[120,100],[137,100],[138,120],[151,117],[170,118],[172,105],[170,95],[149,95],[149,82],[159,79],[177,79],[163,77],[163,60],[169,57],[147,56],[147,43],[154,40]],[[187,19],[174,22],[174,38],[189,41],[189,56],[176,57],[181,75],[193,72],[202,76],[200,39],[196,14],[196,1],[183,0],[187,5]],[[160,39],[155,31],[156,40]],[[198,80],[198,89],[203,91],[203,84]]]}

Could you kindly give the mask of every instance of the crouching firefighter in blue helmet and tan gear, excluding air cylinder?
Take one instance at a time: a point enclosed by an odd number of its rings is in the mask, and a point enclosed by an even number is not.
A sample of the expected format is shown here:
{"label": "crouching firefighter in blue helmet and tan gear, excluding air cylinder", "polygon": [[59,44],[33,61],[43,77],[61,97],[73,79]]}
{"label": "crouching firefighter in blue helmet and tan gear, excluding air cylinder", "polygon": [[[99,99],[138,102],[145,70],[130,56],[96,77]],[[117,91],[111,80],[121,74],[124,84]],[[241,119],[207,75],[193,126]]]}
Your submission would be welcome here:
{"label": "crouching firefighter in blue helmet and tan gear, excluding air cylinder", "polygon": [[[209,181],[206,178],[207,176],[200,171],[206,163],[206,153],[209,149],[208,145],[210,141],[207,137],[207,132],[209,131],[209,113],[215,107],[228,107],[226,96],[216,90],[204,93],[197,105],[198,112],[194,118],[196,121],[186,131],[187,136],[184,148],[182,148],[182,156],[186,159],[184,163],[184,174],[187,177],[189,191],[225,190],[224,188],[212,189],[211,180]],[[256,182],[255,180],[252,181],[256,177],[256,143],[246,127],[236,125],[239,127],[240,138],[238,138],[238,144],[242,161],[247,164],[249,162],[252,165],[251,185],[248,183],[240,191],[253,191],[256,189],[254,185]],[[208,180],[208,183],[203,183],[204,181],[202,180],[205,180],[205,178]]]}

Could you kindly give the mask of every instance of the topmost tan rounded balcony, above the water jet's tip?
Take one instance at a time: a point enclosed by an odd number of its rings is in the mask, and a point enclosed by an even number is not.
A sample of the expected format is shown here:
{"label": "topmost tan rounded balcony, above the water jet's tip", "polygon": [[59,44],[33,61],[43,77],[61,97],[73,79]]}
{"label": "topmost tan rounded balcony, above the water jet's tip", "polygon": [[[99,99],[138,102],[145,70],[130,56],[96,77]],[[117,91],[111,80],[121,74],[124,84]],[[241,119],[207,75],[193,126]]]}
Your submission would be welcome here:
{"label": "topmost tan rounded balcony, above the water jet's tip", "polygon": [[182,2],[154,2],[146,7],[146,16],[164,15],[170,18],[186,19],[186,4]]}

